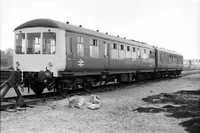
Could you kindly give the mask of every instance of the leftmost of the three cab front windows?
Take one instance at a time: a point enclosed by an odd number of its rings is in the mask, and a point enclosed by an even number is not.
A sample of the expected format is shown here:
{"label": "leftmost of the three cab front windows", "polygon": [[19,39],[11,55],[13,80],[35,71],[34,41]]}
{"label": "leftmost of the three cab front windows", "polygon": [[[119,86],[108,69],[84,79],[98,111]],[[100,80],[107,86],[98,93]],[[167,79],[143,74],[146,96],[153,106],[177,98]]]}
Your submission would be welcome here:
{"label": "leftmost of the three cab front windows", "polygon": [[25,54],[26,52],[26,43],[25,43],[25,34],[19,33],[16,35],[16,54]]}

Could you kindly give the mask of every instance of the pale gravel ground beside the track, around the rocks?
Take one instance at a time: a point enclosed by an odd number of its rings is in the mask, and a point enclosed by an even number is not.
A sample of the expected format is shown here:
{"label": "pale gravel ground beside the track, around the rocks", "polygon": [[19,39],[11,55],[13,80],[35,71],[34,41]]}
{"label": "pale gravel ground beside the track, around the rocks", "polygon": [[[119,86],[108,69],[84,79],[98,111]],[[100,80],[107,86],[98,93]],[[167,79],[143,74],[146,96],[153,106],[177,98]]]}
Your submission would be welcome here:
{"label": "pale gravel ground beside the track, around the rocks", "polygon": [[133,110],[152,107],[142,100],[147,96],[200,89],[199,81],[200,74],[195,74],[96,93],[102,103],[98,110],[69,108],[68,99],[63,99],[17,112],[2,111],[1,133],[184,133],[179,123],[188,118]]}

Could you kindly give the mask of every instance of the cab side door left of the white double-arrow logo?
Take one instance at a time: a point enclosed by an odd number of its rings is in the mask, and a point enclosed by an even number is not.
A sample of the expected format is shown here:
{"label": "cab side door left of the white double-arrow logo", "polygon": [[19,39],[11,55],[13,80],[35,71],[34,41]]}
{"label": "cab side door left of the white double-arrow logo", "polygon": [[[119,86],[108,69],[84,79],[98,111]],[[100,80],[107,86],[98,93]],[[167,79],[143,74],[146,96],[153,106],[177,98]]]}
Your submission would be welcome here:
{"label": "cab side door left of the white double-arrow logo", "polygon": [[65,32],[65,45],[66,45],[66,69],[72,70],[74,65],[74,50],[73,50],[73,37],[69,32]]}

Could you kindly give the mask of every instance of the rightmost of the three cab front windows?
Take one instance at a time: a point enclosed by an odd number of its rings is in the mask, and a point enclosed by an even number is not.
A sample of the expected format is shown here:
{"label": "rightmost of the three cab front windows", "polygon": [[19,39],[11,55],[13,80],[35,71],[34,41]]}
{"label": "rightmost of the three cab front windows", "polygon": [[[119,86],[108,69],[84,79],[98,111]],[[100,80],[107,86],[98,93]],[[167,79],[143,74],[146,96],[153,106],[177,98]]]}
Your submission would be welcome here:
{"label": "rightmost of the three cab front windows", "polygon": [[44,32],[43,33],[43,54],[55,54],[56,53],[56,33]]}

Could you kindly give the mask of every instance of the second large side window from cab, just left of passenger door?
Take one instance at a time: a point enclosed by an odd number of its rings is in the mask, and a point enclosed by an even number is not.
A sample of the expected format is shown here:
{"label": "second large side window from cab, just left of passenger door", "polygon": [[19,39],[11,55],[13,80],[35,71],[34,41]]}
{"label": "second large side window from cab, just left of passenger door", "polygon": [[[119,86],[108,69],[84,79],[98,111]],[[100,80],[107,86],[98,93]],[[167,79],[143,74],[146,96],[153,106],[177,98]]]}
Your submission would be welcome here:
{"label": "second large side window from cab, just left of passenger door", "polygon": [[99,58],[99,40],[90,39],[90,57]]}

